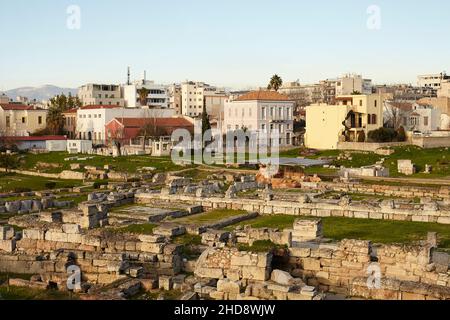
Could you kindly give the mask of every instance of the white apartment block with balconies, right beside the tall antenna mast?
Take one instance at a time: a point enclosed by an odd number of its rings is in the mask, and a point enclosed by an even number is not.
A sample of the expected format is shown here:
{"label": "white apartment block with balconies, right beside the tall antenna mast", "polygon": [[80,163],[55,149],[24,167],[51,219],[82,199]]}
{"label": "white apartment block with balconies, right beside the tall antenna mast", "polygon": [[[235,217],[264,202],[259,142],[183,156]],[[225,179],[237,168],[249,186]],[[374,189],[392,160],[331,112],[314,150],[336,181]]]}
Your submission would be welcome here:
{"label": "white apartment block with balconies, right beside the tall antenna mast", "polygon": [[[141,90],[147,90],[147,99],[145,102],[141,101]],[[125,107],[138,108],[148,106],[150,108],[168,108],[169,107],[169,92],[168,89],[160,84],[155,84],[154,81],[141,80],[136,81],[130,85],[123,86],[123,98],[125,100]]]}

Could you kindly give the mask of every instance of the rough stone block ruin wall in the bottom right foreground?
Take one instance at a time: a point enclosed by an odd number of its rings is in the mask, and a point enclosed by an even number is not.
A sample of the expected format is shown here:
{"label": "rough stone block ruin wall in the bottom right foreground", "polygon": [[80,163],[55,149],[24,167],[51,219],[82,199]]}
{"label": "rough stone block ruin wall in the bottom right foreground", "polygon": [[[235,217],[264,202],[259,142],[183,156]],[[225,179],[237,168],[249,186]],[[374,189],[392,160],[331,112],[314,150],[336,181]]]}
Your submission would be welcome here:
{"label": "rough stone block ruin wall in the bottom right foreground", "polygon": [[[440,262],[442,260],[436,261],[428,245],[384,245],[372,250],[368,241],[344,240],[332,245],[305,243],[290,248],[289,253],[290,272],[325,292],[357,296],[358,292],[364,292],[366,298],[377,298],[379,292],[372,290],[373,295],[367,296],[371,292],[367,281],[362,291],[358,279],[367,279],[369,266],[378,260],[376,266],[385,285],[389,281],[396,281],[413,283],[416,289],[423,286],[439,287],[448,292],[446,298],[450,298],[448,255],[446,264]],[[400,287],[397,291],[401,292]],[[409,289],[408,292],[414,290]]]}

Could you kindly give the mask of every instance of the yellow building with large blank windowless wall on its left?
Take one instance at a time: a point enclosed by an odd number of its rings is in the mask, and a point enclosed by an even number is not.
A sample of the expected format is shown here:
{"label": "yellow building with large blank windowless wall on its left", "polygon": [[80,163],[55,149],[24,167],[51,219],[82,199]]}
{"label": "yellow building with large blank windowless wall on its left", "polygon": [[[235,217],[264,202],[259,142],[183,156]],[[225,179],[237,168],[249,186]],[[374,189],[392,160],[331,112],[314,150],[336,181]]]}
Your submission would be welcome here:
{"label": "yellow building with large blank windowless wall on its left", "polygon": [[382,126],[381,95],[339,96],[336,105],[306,107],[305,145],[319,150],[337,149],[342,141],[365,141],[370,131]]}

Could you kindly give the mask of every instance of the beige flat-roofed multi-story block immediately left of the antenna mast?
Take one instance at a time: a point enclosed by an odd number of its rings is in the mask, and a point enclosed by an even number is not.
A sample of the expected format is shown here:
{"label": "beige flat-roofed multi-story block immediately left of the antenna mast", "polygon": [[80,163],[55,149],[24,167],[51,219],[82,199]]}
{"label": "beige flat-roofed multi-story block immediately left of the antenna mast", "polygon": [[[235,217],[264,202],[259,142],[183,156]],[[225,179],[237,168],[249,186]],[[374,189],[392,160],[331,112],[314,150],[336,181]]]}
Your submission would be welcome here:
{"label": "beige flat-roofed multi-story block immediately left of the antenna mast", "polygon": [[86,84],[78,89],[78,98],[83,106],[123,107],[125,105],[120,86],[114,84]]}

